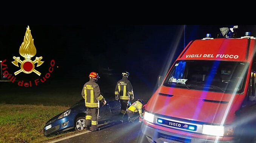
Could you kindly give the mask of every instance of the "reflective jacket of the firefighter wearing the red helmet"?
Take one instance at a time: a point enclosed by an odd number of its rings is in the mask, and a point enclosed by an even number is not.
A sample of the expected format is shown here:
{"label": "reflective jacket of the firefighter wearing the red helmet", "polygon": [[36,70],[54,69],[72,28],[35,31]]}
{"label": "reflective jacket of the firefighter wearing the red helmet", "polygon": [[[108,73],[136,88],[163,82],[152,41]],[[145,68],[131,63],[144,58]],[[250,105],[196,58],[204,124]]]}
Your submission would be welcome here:
{"label": "reflective jacket of the firefighter wearing the red helmet", "polygon": [[99,85],[96,83],[96,80],[91,78],[82,89],[82,96],[85,99],[85,107],[89,108],[98,108],[99,101],[105,101],[102,95],[100,95]]}

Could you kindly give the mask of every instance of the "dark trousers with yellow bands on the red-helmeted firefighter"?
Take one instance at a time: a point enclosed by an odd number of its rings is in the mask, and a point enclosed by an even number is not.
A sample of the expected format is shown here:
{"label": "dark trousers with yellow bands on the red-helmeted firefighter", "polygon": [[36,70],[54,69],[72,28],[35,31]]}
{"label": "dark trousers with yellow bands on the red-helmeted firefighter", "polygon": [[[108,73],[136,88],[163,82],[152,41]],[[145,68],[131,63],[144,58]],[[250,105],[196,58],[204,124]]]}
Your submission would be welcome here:
{"label": "dark trousers with yellow bands on the red-helmeted firefighter", "polygon": [[97,130],[99,108],[87,108],[88,114],[85,116],[85,126],[91,126],[92,131]]}

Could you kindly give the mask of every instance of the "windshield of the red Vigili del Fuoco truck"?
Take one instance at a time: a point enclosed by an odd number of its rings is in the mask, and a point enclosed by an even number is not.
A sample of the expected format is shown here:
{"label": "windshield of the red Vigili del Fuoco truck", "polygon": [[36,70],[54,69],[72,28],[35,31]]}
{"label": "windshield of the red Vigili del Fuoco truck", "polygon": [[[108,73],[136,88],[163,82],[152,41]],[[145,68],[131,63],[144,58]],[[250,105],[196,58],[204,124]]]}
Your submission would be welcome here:
{"label": "windshield of the red Vigili del Fuoco truck", "polygon": [[214,92],[242,93],[247,72],[247,62],[182,60],[174,64],[163,85]]}

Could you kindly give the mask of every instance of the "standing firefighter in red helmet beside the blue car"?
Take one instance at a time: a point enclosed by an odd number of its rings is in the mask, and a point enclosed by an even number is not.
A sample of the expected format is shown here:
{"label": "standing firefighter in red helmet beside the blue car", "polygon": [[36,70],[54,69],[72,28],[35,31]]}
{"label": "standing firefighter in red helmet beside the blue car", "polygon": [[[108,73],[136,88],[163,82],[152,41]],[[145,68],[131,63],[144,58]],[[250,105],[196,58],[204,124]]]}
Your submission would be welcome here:
{"label": "standing firefighter in red helmet beside the blue car", "polygon": [[92,131],[97,131],[98,116],[99,116],[99,101],[106,104],[105,98],[100,94],[99,85],[96,83],[100,78],[96,72],[89,74],[90,80],[85,83],[82,89],[82,96],[85,99],[85,107],[88,113],[85,116],[86,130],[91,126]]}

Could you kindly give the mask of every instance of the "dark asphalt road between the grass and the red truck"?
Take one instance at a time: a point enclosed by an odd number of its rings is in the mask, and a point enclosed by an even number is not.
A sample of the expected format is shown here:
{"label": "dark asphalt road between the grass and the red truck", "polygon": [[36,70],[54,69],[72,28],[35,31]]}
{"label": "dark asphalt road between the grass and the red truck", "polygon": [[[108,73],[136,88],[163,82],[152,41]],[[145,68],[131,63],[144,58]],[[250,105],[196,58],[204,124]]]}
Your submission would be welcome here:
{"label": "dark asphalt road between the grass and the red truck", "polygon": [[97,132],[88,132],[57,143],[148,143],[141,123],[119,123]]}

